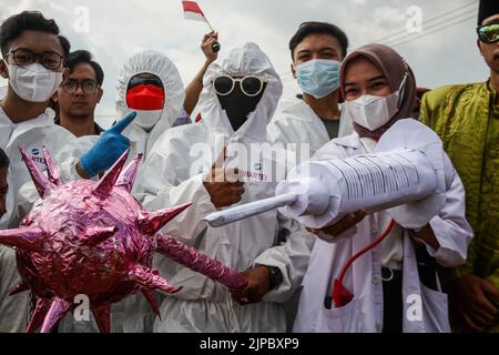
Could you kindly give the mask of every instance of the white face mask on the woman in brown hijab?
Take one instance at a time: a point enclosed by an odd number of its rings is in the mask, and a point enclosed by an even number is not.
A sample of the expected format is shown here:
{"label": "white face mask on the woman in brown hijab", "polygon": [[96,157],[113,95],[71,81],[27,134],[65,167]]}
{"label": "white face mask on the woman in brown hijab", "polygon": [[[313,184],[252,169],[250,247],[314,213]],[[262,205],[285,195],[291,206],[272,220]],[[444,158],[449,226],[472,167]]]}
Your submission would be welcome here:
{"label": "white face mask on the woman in brown hijab", "polygon": [[387,124],[399,111],[407,74],[400,88],[388,97],[363,95],[354,101],[347,101],[347,110],[355,123],[376,131]]}

